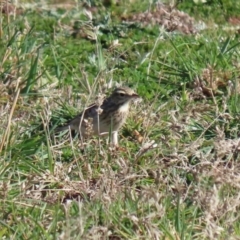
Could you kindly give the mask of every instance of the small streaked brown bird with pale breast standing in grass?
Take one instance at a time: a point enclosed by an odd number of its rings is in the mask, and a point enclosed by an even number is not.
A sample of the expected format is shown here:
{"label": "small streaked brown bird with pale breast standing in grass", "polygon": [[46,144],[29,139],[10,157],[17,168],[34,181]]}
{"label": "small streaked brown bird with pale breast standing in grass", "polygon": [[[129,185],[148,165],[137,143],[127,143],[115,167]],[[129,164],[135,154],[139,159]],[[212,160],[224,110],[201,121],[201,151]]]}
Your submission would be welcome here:
{"label": "small streaked brown bird with pale breast standing in grass", "polygon": [[131,88],[117,87],[102,102],[91,104],[55,131],[74,130],[79,133],[80,139],[109,135],[111,144],[118,146],[118,132],[126,122],[132,100],[137,98],[140,98],[139,95]]}

